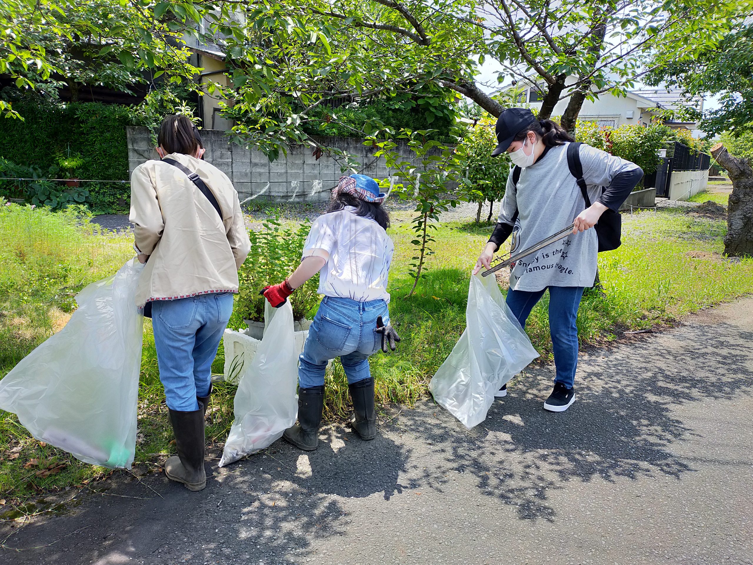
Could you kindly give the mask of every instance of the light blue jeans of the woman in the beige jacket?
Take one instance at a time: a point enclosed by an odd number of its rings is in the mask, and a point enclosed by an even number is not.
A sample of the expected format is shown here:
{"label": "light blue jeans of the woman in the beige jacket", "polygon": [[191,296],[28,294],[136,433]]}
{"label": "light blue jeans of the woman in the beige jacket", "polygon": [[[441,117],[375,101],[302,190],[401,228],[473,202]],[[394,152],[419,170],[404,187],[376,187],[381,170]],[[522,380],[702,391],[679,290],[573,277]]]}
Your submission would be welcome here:
{"label": "light blue jeans of the woman in the beige jacket", "polygon": [[212,362],[231,313],[231,292],[152,302],[157,364],[172,410],[198,410],[196,397],[209,394]]}

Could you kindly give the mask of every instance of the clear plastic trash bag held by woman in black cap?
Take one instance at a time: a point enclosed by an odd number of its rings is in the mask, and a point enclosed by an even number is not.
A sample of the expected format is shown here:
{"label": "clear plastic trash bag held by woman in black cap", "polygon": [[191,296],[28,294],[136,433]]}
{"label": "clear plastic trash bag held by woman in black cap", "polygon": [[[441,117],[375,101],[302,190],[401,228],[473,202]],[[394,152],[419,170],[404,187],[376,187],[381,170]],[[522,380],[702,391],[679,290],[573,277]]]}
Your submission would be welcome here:
{"label": "clear plastic trash bag held by woman in black cap", "polygon": [[466,328],[429,383],[434,400],[471,429],[486,419],[494,393],[538,353],[494,276],[471,276]]}

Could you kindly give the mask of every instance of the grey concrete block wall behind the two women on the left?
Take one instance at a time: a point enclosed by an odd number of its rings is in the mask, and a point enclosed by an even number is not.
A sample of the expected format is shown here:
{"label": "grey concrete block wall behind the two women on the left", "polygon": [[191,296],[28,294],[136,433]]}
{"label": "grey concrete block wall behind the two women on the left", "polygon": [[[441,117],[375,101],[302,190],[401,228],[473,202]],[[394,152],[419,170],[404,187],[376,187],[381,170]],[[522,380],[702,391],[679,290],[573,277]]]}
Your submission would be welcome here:
{"label": "grey concrete block wall behind the two women on the left", "polygon": [[[201,137],[206,148],[204,159],[223,171],[238,191],[240,200],[274,200],[318,202],[329,200],[331,190],[340,179],[340,164],[322,155],[318,160],[308,145],[288,147],[288,155],[270,163],[267,156],[255,148],[248,149],[231,143],[220,130],[202,130]],[[128,166],[130,172],[149,159],[158,159],[145,127],[127,127]],[[336,147],[357,156],[364,166],[362,173],[384,179],[389,176],[383,157],[373,157],[374,149],[363,145],[361,139],[320,137],[322,145]],[[401,154],[410,159],[406,146]]]}

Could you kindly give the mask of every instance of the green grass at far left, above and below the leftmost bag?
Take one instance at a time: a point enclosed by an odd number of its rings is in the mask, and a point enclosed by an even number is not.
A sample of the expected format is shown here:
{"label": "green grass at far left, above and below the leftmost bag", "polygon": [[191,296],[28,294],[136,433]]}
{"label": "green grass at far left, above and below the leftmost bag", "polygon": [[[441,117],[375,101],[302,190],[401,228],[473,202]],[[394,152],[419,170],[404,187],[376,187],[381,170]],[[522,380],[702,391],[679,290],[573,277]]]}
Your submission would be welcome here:
{"label": "green grass at far left, above and below the leftmost bag", "polygon": [[[83,209],[53,213],[0,199],[0,377],[66,324],[84,286],[133,256],[130,237],[107,234],[89,219]],[[14,414],[0,411],[0,499],[17,500],[11,512],[34,512],[29,498],[36,493],[105,472],[40,444]]]}

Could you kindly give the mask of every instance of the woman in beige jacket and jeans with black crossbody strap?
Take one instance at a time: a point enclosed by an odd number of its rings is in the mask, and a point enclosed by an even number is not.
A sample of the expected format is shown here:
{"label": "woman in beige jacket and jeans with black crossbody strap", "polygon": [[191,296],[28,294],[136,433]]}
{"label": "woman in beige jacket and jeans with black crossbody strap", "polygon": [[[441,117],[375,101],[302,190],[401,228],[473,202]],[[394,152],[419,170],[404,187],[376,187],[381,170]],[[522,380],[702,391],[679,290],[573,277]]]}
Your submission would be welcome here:
{"label": "woman in beige jacket and jeans with black crossbody strap", "polygon": [[204,149],[191,121],[165,118],[161,160],[131,175],[136,252],[146,263],[136,303],[150,316],[177,457],[166,475],[190,489],[206,486],[204,414],[212,362],[238,292],[238,269],[250,249],[238,193]]}

